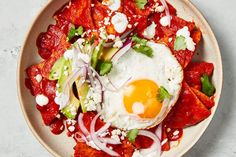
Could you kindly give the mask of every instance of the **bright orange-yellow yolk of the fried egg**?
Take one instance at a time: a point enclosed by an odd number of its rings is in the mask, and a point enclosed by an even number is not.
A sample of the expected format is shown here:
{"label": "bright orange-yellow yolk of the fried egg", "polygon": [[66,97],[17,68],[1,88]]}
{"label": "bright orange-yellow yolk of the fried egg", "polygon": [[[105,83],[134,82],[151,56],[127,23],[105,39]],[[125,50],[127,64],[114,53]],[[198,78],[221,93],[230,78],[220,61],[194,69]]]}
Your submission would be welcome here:
{"label": "bright orange-yellow yolk of the fried egg", "polygon": [[128,113],[141,118],[155,118],[162,108],[158,101],[158,85],[151,80],[137,80],[126,86],[123,102]]}

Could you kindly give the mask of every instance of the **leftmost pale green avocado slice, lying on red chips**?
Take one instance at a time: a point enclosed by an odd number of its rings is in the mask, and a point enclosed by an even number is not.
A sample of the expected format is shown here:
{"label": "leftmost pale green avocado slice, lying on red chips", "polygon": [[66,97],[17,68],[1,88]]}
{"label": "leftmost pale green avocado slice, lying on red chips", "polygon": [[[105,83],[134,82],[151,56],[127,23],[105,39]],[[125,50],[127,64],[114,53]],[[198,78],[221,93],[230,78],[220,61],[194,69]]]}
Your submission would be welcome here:
{"label": "leftmost pale green avocado slice, lying on red chips", "polygon": [[62,69],[64,67],[65,62],[66,59],[64,57],[61,57],[55,62],[50,72],[49,80],[58,80],[61,77]]}

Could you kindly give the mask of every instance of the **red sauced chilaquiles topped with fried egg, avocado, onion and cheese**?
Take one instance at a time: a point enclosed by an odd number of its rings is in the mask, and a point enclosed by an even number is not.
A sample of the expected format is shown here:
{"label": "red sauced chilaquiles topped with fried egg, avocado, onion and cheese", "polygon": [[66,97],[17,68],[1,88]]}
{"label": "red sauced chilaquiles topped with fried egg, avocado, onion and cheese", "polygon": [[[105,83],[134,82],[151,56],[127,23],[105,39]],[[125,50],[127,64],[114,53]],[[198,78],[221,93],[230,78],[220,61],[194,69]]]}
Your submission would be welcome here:
{"label": "red sauced chilaquiles topped with fried egg, avocado, onion and cheese", "polygon": [[165,0],[71,0],[54,19],[25,84],[75,157],[161,156],[211,115],[214,65],[193,61],[201,30]]}

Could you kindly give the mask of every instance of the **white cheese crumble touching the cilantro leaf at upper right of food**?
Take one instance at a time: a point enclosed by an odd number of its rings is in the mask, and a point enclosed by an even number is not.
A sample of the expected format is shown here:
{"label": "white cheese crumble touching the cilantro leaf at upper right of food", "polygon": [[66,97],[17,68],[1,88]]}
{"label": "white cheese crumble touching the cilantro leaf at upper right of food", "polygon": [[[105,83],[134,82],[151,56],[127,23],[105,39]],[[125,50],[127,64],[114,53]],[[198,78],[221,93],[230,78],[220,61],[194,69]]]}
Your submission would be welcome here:
{"label": "white cheese crumble touching the cilantro leaf at upper right of food", "polygon": [[190,36],[190,32],[188,30],[187,26],[184,26],[182,29],[178,30],[176,33],[176,36],[183,36],[185,37],[185,42],[187,45],[187,49],[189,51],[194,51],[195,50],[195,43],[193,41],[193,39]]}

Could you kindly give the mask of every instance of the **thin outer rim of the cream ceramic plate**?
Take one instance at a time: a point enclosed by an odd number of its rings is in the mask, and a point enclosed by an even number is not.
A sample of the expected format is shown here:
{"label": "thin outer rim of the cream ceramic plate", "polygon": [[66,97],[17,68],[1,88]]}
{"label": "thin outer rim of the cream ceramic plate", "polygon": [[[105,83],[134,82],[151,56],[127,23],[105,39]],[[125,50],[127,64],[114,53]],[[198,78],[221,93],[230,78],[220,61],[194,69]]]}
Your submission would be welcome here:
{"label": "thin outer rim of the cream ceramic plate", "polygon": [[[169,1],[169,0],[167,0]],[[188,7],[190,7],[193,12],[195,12],[195,14],[206,24],[206,27],[207,29],[209,30],[209,35],[212,37],[212,41],[213,41],[213,44],[214,46],[216,47],[216,55],[218,55],[218,63],[220,63],[219,65],[219,68],[220,68],[220,73],[221,73],[221,80],[220,80],[220,84],[218,85],[219,86],[219,99],[216,100],[215,102],[215,109],[212,110],[212,113],[211,113],[211,117],[208,117],[208,121],[206,122],[206,125],[201,129],[201,132],[198,134],[198,136],[195,137],[195,139],[191,142],[191,144],[189,144],[182,152],[181,154],[179,154],[179,157],[183,156],[184,154],[186,154],[196,143],[197,141],[199,141],[199,139],[201,138],[201,136],[203,135],[203,133],[206,131],[206,129],[208,128],[209,124],[212,122],[212,119],[218,109],[218,106],[219,106],[219,101],[221,99],[221,93],[222,93],[222,87],[223,87],[223,82],[224,82],[224,75],[223,75],[223,65],[222,65],[222,55],[221,55],[221,51],[220,51],[220,48],[219,48],[219,44],[218,44],[218,41],[216,39],[216,36],[210,26],[210,24],[208,23],[208,21],[206,20],[206,18],[204,17],[204,15],[202,14],[202,12],[190,1],[190,0],[183,0],[184,3],[186,3],[188,5]],[[26,109],[24,107],[24,103],[23,103],[23,97],[22,97],[22,93],[21,93],[21,88],[22,88],[22,84],[20,83],[20,78],[21,78],[21,71],[22,71],[22,64],[21,64],[21,61],[22,61],[22,56],[23,56],[23,52],[24,52],[24,49],[26,47],[26,42],[29,38],[29,35],[31,34],[32,32],[32,28],[33,26],[35,25],[35,23],[37,22],[38,18],[43,14],[43,12],[48,8],[48,6],[50,4],[53,3],[53,0],[49,0],[41,9],[40,11],[36,14],[36,16],[33,18],[31,24],[29,25],[28,27],[28,31],[26,31],[26,35],[24,37],[24,41],[22,42],[22,47],[21,47],[21,50],[20,50],[20,53],[19,53],[19,56],[18,56],[18,59],[17,59],[17,71],[16,71],[16,83],[17,83],[17,96],[18,96],[18,100],[19,100],[19,103],[20,103],[20,107],[21,107],[21,111],[22,111],[22,114],[24,116],[24,119],[30,129],[30,131],[33,133],[34,137],[36,137],[37,141],[39,141],[39,143],[50,153],[52,154],[53,156],[55,157],[61,157],[58,153],[56,153],[55,150],[53,150],[40,136],[39,134],[36,132],[36,130],[33,128],[33,125],[31,124],[31,121],[29,119],[29,117],[27,116],[27,113],[26,113]]]}

